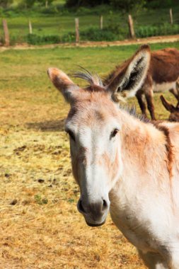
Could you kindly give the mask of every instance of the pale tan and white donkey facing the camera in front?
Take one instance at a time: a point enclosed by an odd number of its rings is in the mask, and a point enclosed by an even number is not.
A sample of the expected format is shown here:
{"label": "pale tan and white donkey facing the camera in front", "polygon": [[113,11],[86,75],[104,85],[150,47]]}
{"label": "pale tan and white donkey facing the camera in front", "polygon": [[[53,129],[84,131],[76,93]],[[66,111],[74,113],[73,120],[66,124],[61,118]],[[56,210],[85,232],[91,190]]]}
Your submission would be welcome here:
{"label": "pale tan and white donkey facing the camera in front", "polygon": [[[108,212],[151,269],[179,268],[179,124],[153,125],[119,107],[134,96],[149,69],[142,46],[125,73],[103,87],[98,76],[80,88],[56,68],[48,74],[71,105],[66,120],[71,165],[79,184],[78,209],[90,226]],[[117,88],[125,86],[123,96]]]}

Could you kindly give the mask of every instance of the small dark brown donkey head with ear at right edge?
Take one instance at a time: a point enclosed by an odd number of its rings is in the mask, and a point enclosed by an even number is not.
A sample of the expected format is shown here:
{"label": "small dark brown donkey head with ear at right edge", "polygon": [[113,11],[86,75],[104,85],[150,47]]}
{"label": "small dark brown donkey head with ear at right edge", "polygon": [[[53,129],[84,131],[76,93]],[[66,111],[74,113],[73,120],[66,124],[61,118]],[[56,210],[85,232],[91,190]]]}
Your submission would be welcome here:
{"label": "small dark brown donkey head with ear at right edge", "polygon": [[163,103],[163,106],[171,113],[168,120],[170,120],[171,122],[179,122],[179,101],[177,105],[174,106],[171,103],[168,103],[168,101],[166,101],[163,96],[160,96],[160,98],[161,102]]}

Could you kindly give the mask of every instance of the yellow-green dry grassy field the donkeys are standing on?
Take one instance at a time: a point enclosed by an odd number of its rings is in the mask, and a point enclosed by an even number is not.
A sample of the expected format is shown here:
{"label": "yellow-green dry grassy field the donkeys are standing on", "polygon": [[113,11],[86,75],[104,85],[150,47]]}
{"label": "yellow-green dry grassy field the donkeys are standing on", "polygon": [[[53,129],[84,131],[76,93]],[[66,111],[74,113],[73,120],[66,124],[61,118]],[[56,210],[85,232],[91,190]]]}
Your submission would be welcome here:
{"label": "yellow-green dry grassy field the donkeys are standing on", "polygon": [[[169,46],[179,49],[179,43],[151,48]],[[71,176],[64,133],[69,107],[46,74],[48,67],[69,72],[79,64],[105,76],[136,49],[56,47],[0,53],[0,268],[144,268],[110,217],[103,227],[91,228],[77,212],[79,188]],[[157,118],[166,119],[158,96]],[[175,102],[170,93],[166,97]],[[137,102],[134,98],[130,103]]]}

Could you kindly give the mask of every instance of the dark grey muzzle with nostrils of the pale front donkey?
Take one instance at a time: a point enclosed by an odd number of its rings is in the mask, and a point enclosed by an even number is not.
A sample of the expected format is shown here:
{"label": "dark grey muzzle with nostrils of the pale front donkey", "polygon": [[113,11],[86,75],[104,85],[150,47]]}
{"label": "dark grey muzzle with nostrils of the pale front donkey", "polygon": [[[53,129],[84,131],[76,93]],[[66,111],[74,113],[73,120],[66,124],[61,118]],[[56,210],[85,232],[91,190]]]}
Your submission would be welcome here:
{"label": "dark grey muzzle with nostrils of the pale front donkey", "polygon": [[78,210],[86,219],[86,223],[91,227],[103,225],[109,210],[109,202],[98,200],[97,202],[86,202],[79,200]]}

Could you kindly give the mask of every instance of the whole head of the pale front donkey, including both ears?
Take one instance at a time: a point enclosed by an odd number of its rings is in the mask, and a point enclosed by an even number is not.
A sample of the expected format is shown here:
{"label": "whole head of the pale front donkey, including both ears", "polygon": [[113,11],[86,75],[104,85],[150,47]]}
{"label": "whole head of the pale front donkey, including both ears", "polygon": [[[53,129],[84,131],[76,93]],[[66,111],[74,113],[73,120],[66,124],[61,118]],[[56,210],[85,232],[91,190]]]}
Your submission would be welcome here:
{"label": "whole head of the pale front donkey, including both ears", "polygon": [[[90,86],[79,88],[67,74],[48,69],[54,86],[71,105],[65,130],[69,134],[72,171],[81,190],[79,212],[90,226],[105,222],[110,207],[109,192],[122,173],[122,116],[117,101],[134,96],[149,69],[150,50],[142,46],[132,57],[123,76],[103,87],[97,75],[75,76]],[[120,92],[117,92],[119,91]]]}

